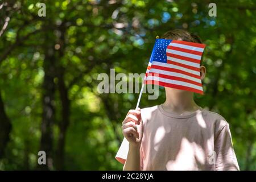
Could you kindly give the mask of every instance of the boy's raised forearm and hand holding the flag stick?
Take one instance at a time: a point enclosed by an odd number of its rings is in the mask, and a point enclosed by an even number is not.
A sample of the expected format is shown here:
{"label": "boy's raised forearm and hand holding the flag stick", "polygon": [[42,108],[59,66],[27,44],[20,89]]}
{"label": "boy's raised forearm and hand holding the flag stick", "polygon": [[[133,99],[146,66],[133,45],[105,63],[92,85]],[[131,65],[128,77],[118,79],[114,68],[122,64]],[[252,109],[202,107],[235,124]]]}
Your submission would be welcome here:
{"label": "boy's raised forearm and hand holding the flag stick", "polygon": [[130,110],[122,123],[124,137],[129,142],[129,152],[123,170],[141,170],[141,140],[143,137],[143,123],[141,110]]}

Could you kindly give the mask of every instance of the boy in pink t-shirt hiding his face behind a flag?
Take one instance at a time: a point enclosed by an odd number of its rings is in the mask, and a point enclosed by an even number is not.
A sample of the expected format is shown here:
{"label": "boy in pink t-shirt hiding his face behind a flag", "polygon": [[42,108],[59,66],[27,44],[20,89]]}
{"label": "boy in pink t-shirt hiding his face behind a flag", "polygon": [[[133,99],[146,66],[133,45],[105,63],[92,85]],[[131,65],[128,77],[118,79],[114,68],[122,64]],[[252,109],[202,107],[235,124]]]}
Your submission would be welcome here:
{"label": "boy in pink t-shirt hiding his face behind a flag", "polygon": [[[162,38],[201,43],[185,30]],[[205,72],[201,65],[201,80]],[[225,119],[198,106],[192,92],[165,90],[162,105],[130,110],[123,120],[125,139],[116,156],[123,170],[239,170]]]}

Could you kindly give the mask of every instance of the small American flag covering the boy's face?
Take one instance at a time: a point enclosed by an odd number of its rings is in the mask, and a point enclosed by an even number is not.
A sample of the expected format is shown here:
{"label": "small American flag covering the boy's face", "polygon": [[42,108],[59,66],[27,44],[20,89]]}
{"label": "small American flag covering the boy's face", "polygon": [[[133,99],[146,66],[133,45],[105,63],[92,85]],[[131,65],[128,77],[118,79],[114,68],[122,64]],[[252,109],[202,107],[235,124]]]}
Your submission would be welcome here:
{"label": "small American flag covering the boy's face", "polygon": [[200,61],[205,44],[156,39],[145,82],[204,94]]}

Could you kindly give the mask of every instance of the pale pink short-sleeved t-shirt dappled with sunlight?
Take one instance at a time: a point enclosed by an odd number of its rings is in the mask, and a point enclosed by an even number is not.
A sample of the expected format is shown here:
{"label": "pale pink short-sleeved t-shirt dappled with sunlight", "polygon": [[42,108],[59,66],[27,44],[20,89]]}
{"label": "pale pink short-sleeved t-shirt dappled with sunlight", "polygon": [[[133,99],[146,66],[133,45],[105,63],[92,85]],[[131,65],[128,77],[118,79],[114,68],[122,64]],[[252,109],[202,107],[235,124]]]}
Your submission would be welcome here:
{"label": "pale pink short-sleeved t-shirt dappled with sunlight", "polygon": [[[239,170],[229,124],[202,109],[175,115],[162,105],[141,110],[143,170]],[[115,158],[125,163],[129,142],[124,139]]]}

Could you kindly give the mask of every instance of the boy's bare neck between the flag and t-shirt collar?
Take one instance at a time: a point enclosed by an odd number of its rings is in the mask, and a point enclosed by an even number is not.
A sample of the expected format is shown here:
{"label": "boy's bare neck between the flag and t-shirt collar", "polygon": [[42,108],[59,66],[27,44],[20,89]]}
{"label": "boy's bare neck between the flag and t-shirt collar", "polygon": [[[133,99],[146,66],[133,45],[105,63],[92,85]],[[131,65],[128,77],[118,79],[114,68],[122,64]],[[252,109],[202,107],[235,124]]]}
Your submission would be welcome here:
{"label": "boy's bare neck between the flag and t-shirt collar", "polygon": [[162,106],[167,112],[175,114],[185,114],[200,108],[193,100],[191,92],[167,92]]}

